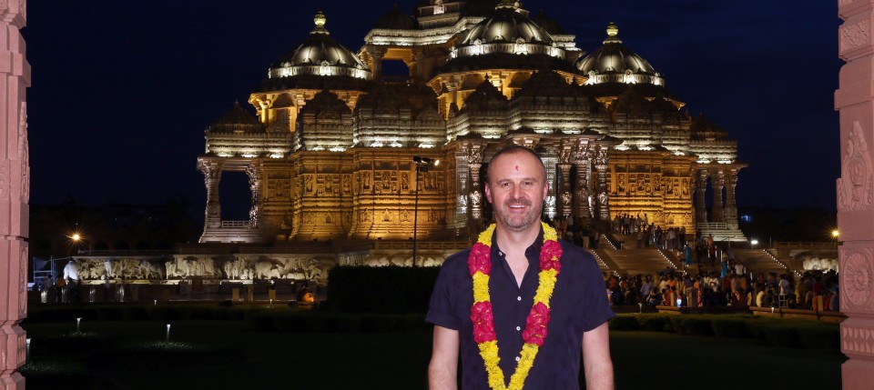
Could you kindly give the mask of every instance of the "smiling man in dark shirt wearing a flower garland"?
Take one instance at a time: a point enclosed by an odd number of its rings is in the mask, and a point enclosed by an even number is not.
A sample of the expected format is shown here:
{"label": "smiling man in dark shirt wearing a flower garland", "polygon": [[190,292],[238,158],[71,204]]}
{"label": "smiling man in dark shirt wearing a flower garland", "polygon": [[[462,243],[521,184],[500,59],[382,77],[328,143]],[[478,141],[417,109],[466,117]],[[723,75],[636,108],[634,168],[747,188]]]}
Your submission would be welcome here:
{"label": "smiling man in dark shirt wearing a flower garland", "polygon": [[[493,205],[493,235],[489,237],[487,230],[474,245],[477,250],[447,258],[434,286],[426,317],[434,324],[430,388],[456,388],[461,355],[463,389],[488,389],[490,381],[500,387],[500,381],[508,385],[511,380],[526,389],[577,389],[581,350],[586,388],[613,388],[606,321],[614,314],[604,293],[604,280],[592,255],[550,238],[544,243],[552,232],[540,223],[548,190],[543,162],[527,148],[510,146],[493,156],[487,174],[484,193]],[[552,257],[550,248],[557,245],[561,255]],[[560,271],[554,278],[553,294],[547,297],[548,315],[536,315],[543,304],[534,305],[535,292],[550,288],[550,284],[540,286],[539,280],[548,272],[543,264],[553,264],[541,262],[543,254],[560,263]],[[476,267],[483,265],[483,258],[490,266],[489,276],[484,287],[474,286],[473,279],[483,277]],[[476,310],[483,307],[483,299],[474,302],[474,288],[480,298],[486,289],[491,315],[487,318],[493,321],[483,322],[482,312]],[[475,325],[472,317],[477,320]],[[544,329],[538,326],[545,326],[545,332],[536,332]],[[534,357],[523,354],[523,350],[532,350],[541,334]],[[495,342],[496,348],[483,347]],[[526,363],[531,363],[530,369]],[[517,368],[521,368],[518,375]]]}

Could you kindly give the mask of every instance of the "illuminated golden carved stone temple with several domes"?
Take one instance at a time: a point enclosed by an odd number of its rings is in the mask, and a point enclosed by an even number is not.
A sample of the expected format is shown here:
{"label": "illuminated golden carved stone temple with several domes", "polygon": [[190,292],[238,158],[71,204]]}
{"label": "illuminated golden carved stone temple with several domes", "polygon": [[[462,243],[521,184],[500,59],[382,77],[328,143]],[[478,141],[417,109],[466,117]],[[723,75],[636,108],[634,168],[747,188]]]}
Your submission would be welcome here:
{"label": "illuminated golden carved stone temple with several domes", "polygon": [[[425,0],[414,15],[382,15],[352,52],[330,18],[313,21],[250,108],[208,125],[201,243],[466,241],[491,219],[484,173],[510,144],[543,156],[547,217],[645,213],[744,239],[737,142],[688,115],[616,25],[587,54],[519,2]],[[382,75],[391,61],[409,75]],[[248,220],[222,218],[224,172],[248,176]]]}

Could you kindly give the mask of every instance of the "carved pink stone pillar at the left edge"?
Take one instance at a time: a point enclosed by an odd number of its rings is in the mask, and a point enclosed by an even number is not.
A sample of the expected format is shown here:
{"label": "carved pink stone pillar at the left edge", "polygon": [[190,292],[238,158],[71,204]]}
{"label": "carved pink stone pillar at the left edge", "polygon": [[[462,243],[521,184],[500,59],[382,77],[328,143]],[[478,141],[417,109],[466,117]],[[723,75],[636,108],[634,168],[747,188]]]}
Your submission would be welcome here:
{"label": "carved pink stone pillar at the left edge", "polygon": [[25,0],[0,2],[0,390],[23,389],[27,315],[27,230],[30,164],[25,59]]}

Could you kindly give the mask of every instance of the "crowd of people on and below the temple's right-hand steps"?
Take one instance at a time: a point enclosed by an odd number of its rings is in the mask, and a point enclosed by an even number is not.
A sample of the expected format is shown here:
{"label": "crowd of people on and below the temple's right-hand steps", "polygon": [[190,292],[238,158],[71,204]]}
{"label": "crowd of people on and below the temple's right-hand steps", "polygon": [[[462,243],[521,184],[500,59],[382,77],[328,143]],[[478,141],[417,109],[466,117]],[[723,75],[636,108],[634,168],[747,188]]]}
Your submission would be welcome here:
{"label": "crowd of people on and below the temple's right-hand steps", "polygon": [[[615,235],[633,235],[637,248],[661,248],[674,254],[681,269],[667,267],[655,275],[605,275],[607,294],[613,305],[682,305],[783,307],[838,311],[838,274],[807,271],[803,275],[749,273],[735,249],[717,243],[713,235],[686,228],[662,228],[646,213],[619,214],[611,221]],[[573,216],[550,221],[569,242],[597,249],[605,239],[585,219]],[[686,239],[689,238],[690,241]],[[626,248],[628,246],[625,246]]]}

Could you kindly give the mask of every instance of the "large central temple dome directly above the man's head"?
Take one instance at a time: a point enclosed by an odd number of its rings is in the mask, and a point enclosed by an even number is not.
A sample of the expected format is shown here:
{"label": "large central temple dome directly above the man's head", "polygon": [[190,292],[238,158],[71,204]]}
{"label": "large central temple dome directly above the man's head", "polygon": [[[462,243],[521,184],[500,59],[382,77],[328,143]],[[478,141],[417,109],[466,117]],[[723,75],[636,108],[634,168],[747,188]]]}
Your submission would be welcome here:
{"label": "large central temple dome directly above the man's head", "polygon": [[492,15],[471,28],[461,42],[452,46],[450,60],[474,55],[549,55],[564,58],[564,50],[528,18],[519,2],[502,0]]}

